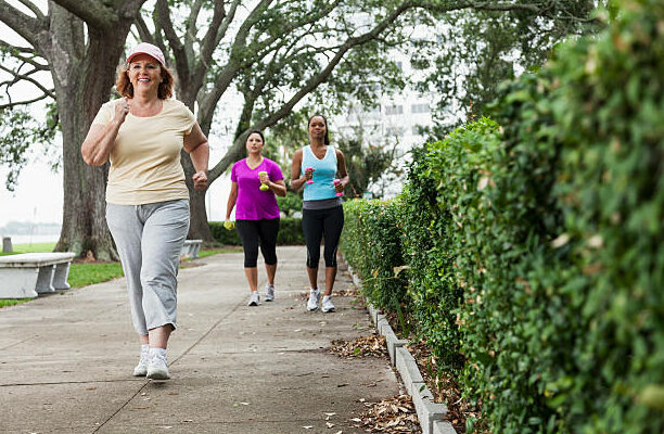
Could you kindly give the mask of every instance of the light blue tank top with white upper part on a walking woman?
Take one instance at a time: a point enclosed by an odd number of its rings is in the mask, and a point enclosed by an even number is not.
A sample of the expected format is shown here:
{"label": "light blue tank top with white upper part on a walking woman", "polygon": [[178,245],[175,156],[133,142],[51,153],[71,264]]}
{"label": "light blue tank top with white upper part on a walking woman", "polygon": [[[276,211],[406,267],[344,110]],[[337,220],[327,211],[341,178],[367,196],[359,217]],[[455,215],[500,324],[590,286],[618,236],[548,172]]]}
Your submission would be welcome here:
{"label": "light blue tank top with white upper part on a walking woman", "polygon": [[334,190],[334,178],[336,178],[336,152],[328,145],[328,152],[322,159],[318,159],[311,146],[304,146],[302,155],[301,174],[304,175],[307,167],[314,168],[314,183],[305,182],[304,200],[321,201],[324,199],[336,199]]}

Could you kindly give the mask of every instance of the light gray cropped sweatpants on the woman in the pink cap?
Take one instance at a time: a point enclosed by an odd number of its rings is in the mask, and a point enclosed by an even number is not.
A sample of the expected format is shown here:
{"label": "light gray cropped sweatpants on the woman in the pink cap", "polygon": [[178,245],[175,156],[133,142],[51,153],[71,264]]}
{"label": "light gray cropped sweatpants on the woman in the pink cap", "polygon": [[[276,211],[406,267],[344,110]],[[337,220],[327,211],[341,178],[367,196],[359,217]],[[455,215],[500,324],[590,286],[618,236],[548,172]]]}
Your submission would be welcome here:
{"label": "light gray cropped sweatpants on the woman in the pink cap", "polygon": [[106,222],[120,256],[133,328],[139,334],[176,328],[177,276],[189,231],[189,201],[106,204]]}

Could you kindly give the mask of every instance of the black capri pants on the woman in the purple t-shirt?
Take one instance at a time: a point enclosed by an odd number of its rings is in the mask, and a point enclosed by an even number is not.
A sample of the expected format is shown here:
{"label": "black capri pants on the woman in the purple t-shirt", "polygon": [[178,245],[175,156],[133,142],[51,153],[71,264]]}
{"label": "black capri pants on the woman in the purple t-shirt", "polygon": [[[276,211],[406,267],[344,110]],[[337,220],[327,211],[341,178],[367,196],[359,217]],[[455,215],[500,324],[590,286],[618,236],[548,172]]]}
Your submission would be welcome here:
{"label": "black capri pants on the woman in the purple t-shirt", "polygon": [[277,234],[279,218],[263,220],[235,220],[235,228],[244,247],[244,268],[255,268],[258,259],[258,245],[265,264],[277,264]]}

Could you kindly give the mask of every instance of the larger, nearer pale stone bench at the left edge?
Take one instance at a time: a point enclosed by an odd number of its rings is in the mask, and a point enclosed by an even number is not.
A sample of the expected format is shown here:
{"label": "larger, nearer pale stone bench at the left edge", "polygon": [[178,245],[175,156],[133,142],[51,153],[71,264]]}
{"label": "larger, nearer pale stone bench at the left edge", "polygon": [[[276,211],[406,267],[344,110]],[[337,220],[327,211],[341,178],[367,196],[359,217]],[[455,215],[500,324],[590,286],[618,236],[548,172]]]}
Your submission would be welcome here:
{"label": "larger, nearer pale stone bench at the left edge", "polygon": [[22,253],[0,256],[0,298],[34,298],[68,290],[74,253]]}

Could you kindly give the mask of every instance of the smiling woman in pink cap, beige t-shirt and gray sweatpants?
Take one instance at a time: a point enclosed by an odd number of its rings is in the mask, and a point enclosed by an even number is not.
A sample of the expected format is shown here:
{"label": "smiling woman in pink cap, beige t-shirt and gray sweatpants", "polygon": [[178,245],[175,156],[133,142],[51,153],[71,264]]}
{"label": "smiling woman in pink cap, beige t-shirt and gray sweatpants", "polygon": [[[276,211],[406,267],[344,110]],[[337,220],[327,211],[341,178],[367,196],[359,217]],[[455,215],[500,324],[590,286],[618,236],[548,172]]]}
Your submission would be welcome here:
{"label": "smiling woman in pink cap, beige t-shirt and gray sweatpants", "polygon": [[111,163],[106,222],[127,278],[141,355],[133,375],[169,378],[166,344],[176,328],[177,273],[189,231],[189,191],[180,151],[191,156],[194,189],[207,188],[209,148],[196,119],[171,99],[162,50],[135,47],[118,72],[122,98],[100,108],[81,145],[84,161]]}

